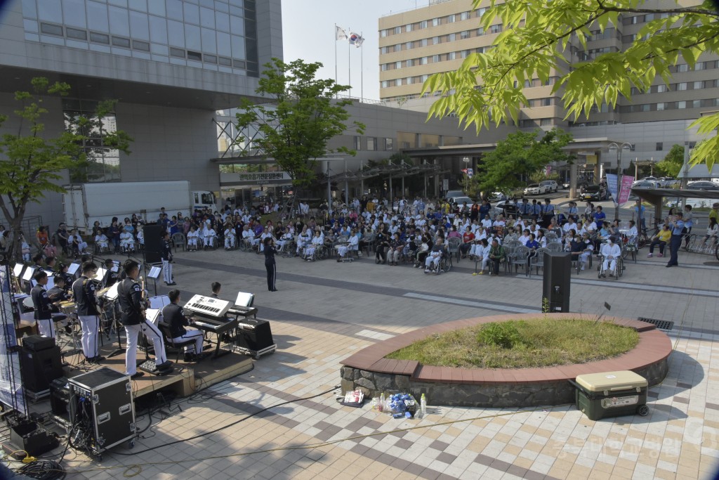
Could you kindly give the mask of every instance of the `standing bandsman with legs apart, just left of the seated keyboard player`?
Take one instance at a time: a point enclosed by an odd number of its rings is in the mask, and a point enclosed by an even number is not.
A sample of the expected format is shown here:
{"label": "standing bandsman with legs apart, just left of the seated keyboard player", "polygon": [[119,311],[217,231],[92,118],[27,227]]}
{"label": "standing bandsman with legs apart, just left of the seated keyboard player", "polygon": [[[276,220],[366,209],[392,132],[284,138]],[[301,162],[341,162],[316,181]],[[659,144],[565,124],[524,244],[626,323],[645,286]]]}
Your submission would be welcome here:
{"label": "standing bandsman with legs apart, just left of the seated keyboard player", "polygon": [[145,373],[137,371],[137,340],[140,330],[147,338],[152,340],[155,347],[155,366],[162,370],[168,368],[170,363],[165,356],[165,343],[162,342],[162,333],[152,322],[145,320],[145,298],[142,287],[137,283],[139,264],[134,260],[124,263],[127,275],[117,287],[117,299],[120,305],[120,322],[127,334],[127,353],[125,355],[125,373],[136,379]]}

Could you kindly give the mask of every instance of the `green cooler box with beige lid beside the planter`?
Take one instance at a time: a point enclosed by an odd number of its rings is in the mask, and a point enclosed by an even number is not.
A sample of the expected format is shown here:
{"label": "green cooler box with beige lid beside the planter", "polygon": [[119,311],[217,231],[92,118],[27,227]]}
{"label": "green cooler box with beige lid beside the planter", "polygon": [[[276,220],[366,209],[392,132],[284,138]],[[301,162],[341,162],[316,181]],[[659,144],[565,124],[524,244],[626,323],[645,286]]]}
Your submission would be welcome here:
{"label": "green cooler box with beige lid beside the planter", "polygon": [[577,409],[590,420],[621,415],[649,414],[646,406],[646,379],[633,371],[587,373],[572,381],[577,390],[574,399]]}

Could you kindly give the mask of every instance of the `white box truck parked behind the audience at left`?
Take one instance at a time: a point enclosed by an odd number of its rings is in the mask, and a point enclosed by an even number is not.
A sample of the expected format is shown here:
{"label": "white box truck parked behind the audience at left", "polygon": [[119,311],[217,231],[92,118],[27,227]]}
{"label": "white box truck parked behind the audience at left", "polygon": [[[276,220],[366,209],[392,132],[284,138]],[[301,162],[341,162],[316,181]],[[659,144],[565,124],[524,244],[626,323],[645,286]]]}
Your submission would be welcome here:
{"label": "white box truck parked behind the audience at left", "polygon": [[170,218],[178,212],[189,216],[194,209],[216,209],[211,191],[191,191],[186,180],[72,184],[65,190],[65,224],[68,230],[77,229],[83,235],[91,233],[95,222],[109,227],[113,217],[122,222],[137,214],[145,222],[155,222],[162,207]]}

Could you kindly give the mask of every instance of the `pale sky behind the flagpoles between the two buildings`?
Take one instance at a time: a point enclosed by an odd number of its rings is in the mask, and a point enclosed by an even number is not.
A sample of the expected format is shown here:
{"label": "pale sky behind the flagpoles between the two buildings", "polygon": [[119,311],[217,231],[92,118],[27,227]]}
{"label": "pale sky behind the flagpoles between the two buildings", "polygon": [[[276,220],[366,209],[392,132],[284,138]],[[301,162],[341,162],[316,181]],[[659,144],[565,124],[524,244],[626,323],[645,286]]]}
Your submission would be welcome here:
{"label": "pale sky behind the flagpoles between the two buildings", "polygon": [[[336,46],[337,81],[351,85],[352,96],[379,100],[378,19],[427,4],[428,0],[282,0],[284,60],[320,62],[324,67],[319,78],[334,79]],[[334,24],[347,35],[350,31],[362,34],[362,47],[351,45],[348,53],[347,40],[335,40]]]}

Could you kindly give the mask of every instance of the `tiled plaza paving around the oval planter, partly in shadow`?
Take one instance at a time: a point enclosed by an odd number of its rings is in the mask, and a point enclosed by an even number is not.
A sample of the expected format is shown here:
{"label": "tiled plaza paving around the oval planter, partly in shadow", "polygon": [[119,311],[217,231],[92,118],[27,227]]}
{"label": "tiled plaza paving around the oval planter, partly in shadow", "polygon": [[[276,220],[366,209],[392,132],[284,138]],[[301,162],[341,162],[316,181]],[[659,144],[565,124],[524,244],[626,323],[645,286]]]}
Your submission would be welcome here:
{"label": "tiled plaza paving around the oval planter, partly in shadow", "polygon": [[184,299],[208,294],[212,281],[227,298],[254,292],[278,351],[249,373],[179,401],[182,412],[153,418],[134,450],[120,445],[101,462],[68,452],[65,466],[75,472],[68,478],[712,478],[719,458],[719,266],[682,252],[679,268],[665,268],[666,258],[646,258],[646,251],[618,281],[597,279],[593,270],[572,273],[573,312],[596,317],[607,302],[618,317],[675,322],[669,375],[649,390],[649,416],[597,422],[574,405],[450,408],[430,398],[426,418],[395,420],[369,402],[362,409],[336,402],[339,362],[351,353],[437,322],[539,312],[541,275],[472,276],[468,260],[434,276],[373,258],[278,258],[273,293],[261,255],[178,251]]}

